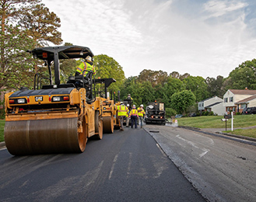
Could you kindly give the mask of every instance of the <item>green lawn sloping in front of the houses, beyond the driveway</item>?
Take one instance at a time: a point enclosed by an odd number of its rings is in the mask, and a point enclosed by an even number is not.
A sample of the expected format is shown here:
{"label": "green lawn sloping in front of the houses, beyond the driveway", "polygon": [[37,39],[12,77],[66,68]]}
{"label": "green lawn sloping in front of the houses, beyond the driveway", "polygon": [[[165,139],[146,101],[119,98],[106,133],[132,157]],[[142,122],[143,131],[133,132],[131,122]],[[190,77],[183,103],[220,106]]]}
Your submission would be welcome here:
{"label": "green lawn sloping in front of the houses, beyond the driveway", "polygon": [[[199,128],[225,128],[231,126],[231,120],[226,123],[222,121],[223,116],[202,116],[202,117],[182,117],[178,118],[179,126],[199,127]],[[256,125],[256,115],[237,115],[233,119],[233,127],[251,127]]]}

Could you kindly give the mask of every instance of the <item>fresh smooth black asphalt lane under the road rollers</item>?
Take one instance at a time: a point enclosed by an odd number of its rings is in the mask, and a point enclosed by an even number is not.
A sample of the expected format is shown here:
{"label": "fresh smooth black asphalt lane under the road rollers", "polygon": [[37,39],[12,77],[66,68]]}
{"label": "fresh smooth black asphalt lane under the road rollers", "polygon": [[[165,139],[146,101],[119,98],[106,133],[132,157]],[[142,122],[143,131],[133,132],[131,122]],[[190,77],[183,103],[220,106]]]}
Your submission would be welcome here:
{"label": "fresh smooth black asphalt lane under the road rollers", "polygon": [[82,154],[12,156],[2,149],[0,201],[205,199],[149,133],[125,128],[89,140]]}

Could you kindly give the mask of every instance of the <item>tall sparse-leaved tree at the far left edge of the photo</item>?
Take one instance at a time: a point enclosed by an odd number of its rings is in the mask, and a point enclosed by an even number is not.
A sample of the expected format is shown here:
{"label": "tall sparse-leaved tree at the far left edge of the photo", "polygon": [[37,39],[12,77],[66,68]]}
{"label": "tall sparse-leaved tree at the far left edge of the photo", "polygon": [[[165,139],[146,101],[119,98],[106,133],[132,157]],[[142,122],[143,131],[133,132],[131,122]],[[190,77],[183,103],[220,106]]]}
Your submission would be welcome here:
{"label": "tall sparse-leaved tree at the far left edge of the photo", "polygon": [[20,85],[30,86],[32,61],[26,50],[33,47],[33,40],[16,25],[23,8],[40,1],[0,1],[0,89],[17,89]]}

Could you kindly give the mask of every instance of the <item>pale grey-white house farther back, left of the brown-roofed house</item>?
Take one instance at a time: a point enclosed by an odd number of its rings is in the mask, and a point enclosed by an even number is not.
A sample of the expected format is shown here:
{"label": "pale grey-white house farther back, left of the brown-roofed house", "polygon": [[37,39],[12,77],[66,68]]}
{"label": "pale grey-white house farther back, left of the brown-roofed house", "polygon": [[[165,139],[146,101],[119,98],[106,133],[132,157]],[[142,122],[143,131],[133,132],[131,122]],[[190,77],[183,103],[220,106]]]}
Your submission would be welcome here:
{"label": "pale grey-white house farther back, left of the brown-roofed house", "polygon": [[213,112],[218,115],[223,115],[225,113],[225,107],[223,106],[223,99],[218,96],[212,98],[204,99],[198,103],[198,111],[202,113],[203,111]]}

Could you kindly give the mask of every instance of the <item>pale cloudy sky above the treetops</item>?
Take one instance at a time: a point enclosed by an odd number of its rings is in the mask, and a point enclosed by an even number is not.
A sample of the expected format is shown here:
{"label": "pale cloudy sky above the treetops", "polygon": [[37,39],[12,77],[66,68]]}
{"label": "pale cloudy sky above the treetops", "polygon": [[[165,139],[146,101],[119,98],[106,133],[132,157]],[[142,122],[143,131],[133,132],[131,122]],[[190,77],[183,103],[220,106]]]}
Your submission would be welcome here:
{"label": "pale cloudy sky above the treetops", "polygon": [[42,0],[63,43],[113,57],[126,78],[144,69],[203,78],[256,57],[254,0]]}

